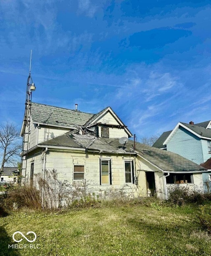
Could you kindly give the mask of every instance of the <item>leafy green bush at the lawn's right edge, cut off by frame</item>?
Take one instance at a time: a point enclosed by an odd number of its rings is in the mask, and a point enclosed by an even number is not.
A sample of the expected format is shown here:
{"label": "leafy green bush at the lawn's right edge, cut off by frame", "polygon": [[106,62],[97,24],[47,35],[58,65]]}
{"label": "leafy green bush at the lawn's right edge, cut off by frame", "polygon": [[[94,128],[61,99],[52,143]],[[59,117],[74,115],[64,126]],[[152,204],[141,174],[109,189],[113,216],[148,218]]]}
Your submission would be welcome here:
{"label": "leafy green bush at the lawn's right edge, cut off by frame", "polygon": [[211,205],[200,205],[198,219],[203,230],[211,234]]}

